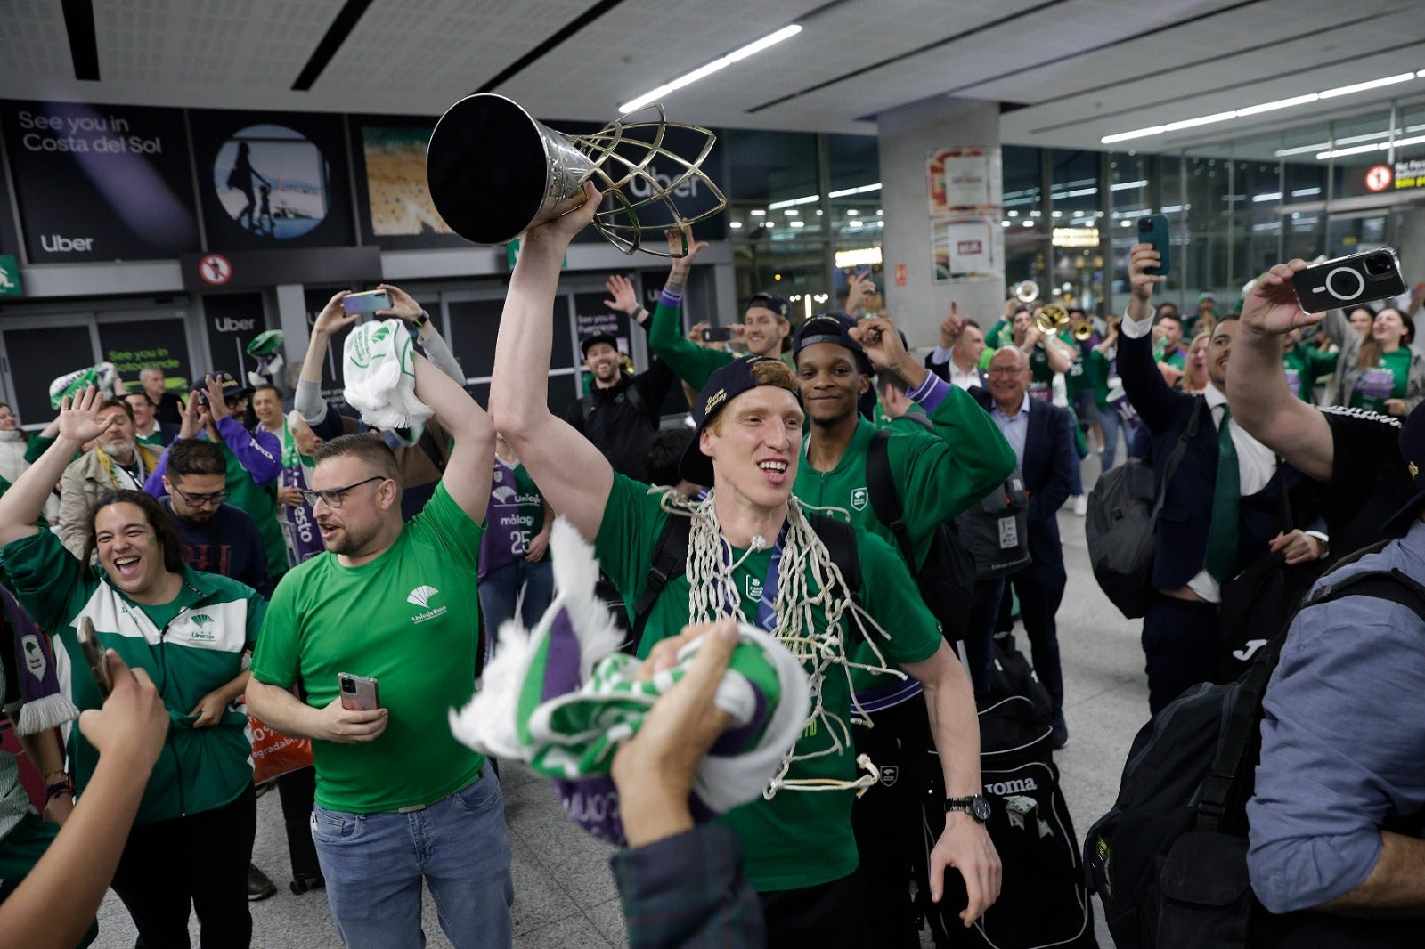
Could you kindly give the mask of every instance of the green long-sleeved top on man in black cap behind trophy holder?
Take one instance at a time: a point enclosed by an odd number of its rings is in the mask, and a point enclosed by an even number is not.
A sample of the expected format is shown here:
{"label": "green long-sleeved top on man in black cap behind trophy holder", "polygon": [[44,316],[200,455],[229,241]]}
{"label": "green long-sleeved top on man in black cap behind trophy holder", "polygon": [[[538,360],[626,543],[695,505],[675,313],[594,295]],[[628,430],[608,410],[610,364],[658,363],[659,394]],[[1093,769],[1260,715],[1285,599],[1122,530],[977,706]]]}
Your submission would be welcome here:
{"label": "green long-sleeved top on man in black cap behind trophy holder", "polygon": [[[945,399],[929,413],[933,432],[909,420],[896,429],[902,435],[886,443],[891,479],[901,494],[916,564],[925,560],[936,527],[973,506],[1015,470],[1015,450],[989,413],[959,386],[946,389]],[[899,553],[895,534],[871,506],[866,486],[866,460],[875,433],[875,426],[862,419],[829,472],[818,472],[807,462],[809,440],[804,440],[792,493],[811,509],[846,512],[852,524],[882,537]],[[856,641],[854,658],[875,664],[865,640]],[[852,681],[858,694],[901,684],[893,675],[859,668],[852,671]]]}

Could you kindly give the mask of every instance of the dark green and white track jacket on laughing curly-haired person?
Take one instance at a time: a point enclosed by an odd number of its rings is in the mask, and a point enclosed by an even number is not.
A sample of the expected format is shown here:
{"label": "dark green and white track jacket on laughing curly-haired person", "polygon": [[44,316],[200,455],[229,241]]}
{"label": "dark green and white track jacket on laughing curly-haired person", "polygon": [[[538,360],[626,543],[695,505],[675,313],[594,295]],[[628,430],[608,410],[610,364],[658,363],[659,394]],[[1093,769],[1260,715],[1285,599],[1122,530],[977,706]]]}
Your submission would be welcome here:
{"label": "dark green and white track jacket on laughing curly-haired person", "polygon": [[[93,621],[100,645],[130,668],[142,668],[158,687],[168,738],[144,788],[137,824],[225,807],[252,784],[248,717],[229,705],[217,725],[192,728],[197,715],[188,712],[242,671],[242,655],[262,626],[261,596],[237,580],[184,567],[174,600],[142,606],[81,564],[48,530],[0,549],[0,567],[36,624],[64,647],[68,675],[61,675],[61,687],[80,710],[103,704],[76,637],[81,616]],[[83,799],[98,752],[78,728],[70,730],[68,759]]]}

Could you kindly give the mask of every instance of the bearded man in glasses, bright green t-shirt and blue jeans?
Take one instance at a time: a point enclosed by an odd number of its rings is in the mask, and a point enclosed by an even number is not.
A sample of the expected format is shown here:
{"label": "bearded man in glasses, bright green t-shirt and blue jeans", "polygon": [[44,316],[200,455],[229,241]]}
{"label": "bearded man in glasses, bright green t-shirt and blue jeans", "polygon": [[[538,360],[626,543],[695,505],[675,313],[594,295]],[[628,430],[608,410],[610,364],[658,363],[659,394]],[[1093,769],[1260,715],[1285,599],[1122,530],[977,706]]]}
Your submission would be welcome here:
{"label": "bearded man in glasses, bright green t-shirt and blue jeans", "polygon": [[[316,450],[304,494],[326,551],[274,593],[248,702],[274,730],[312,738],[312,838],[349,949],[419,945],[422,879],[457,949],[504,949],[513,888],[499,781],[447,722],[475,693],[494,427],[423,356],[415,370],[416,398],[455,439],[445,476],[402,523],[385,442],[343,435]],[[375,678],[380,707],[343,708],[343,673]],[[298,681],[305,701],[289,691]]]}

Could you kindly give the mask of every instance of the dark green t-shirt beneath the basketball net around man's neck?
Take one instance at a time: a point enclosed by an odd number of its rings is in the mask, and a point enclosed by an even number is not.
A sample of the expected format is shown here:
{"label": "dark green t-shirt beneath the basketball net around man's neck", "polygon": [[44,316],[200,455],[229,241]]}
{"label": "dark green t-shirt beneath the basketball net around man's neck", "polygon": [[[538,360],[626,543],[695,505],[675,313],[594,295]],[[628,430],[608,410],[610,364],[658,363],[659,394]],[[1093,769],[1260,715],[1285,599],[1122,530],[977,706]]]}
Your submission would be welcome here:
{"label": "dark green t-shirt beneath the basketball net around man's neck", "polygon": [[[627,603],[636,603],[643,591],[653,561],[653,547],[668,516],[658,506],[658,494],[648,494],[647,484],[614,474],[596,550],[600,567]],[[891,640],[884,644],[886,658],[902,664],[931,658],[940,647],[939,627],[921,603],[905,564],[879,537],[856,531],[856,541],[862,576],[861,601],[891,634]],[[744,553],[734,549],[734,560]],[[761,584],[771,557],[771,550],[754,553],[734,571],[742,593],[742,613],[752,621],[757,618]],[[683,630],[690,614],[690,590],[687,576],[668,580],[653,604],[638,645],[640,655],[647,655],[654,643]],[[825,614],[819,608],[812,608],[812,624],[815,630],[825,630]],[[851,697],[846,675],[839,667],[828,668],[822,690],[826,711],[849,725]],[[831,747],[832,735],[826,728],[809,725],[797,742],[797,752],[811,754]],[[795,762],[788,778],[851,781],[858,777],[855,772],[855,752],[842,737],[841,751]],[[771,801],[757,798],[718,821],[732,828],[741,841],[747,875],[758,891],[817,886],[856,869],[856,841],[851,832],[852,798],[851,791],[784,789]]]}

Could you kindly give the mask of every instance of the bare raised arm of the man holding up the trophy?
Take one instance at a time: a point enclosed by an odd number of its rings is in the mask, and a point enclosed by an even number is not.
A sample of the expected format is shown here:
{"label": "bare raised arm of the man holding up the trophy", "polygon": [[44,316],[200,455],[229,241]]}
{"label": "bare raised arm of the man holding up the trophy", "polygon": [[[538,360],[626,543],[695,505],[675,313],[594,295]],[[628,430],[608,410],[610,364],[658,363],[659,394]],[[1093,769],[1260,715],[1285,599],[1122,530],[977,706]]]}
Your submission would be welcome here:
{"label": "bare raised arm of the man holding up the trophy", "polygon": [[494,343],[490,415],[550,506],[593,540],[604,519],[614,470],[589,439],[549,410],[559,268],[569,241],[598,208],[593,185],[584,187],[584,198],[574,211],[524,234]]}

